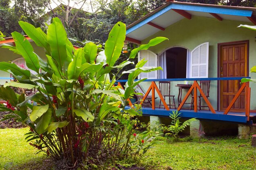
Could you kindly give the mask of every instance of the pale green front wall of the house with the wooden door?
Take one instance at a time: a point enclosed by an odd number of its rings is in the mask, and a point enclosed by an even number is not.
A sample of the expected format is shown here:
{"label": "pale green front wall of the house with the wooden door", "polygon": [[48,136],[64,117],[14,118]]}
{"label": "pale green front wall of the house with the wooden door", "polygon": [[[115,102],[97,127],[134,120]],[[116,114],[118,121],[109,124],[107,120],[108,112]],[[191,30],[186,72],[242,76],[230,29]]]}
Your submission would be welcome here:
{"label": "pale green front wall of the house with the wooden door", "polygon": [[[147,43],[150,39],[157,36],[168,38],[168,41],[164,41],[161,44],[149,49],[150,51],[159,54],[172,46],[182,46],[192,51],[199,44],[209,42],[209,77],[217,77],[218,43],[249,40],[249,69],[256,65],[256,31],[245,28],[237,28],[237,26],[240,24],[252,25],[252,23],[248,22],[233,20],[219,21],[215,18],[193,16],[191,20],[180,20],[179,22],[168,26],[165,31],[159,31],[158,33],[155,33],[149,38],[143,40],[142,44]],[[249,76],[256,78],[256,73],[249,73]],[[172,83],[172,94],[175,95],[177,106],[178,88],[175,87],[175,85],[184,84],[184,82]],[[148,86],[148,82],[145,82],[144,84],[145,87]],[[252,87],[251,109],[255,110],[256,100],[253,96],[256,96],[256,90],[254,90],[256,89],[256,84],[250,83],[250,87]],[[145,91],[146,90],[147,89],[145,88]],[[209,100],[213,107],[217,109],[217,81],[211,82]],[[190,102],[190,99],[188,102]],[[159,102],[157,101],[156,104],[158,103]]]}

